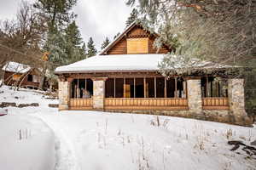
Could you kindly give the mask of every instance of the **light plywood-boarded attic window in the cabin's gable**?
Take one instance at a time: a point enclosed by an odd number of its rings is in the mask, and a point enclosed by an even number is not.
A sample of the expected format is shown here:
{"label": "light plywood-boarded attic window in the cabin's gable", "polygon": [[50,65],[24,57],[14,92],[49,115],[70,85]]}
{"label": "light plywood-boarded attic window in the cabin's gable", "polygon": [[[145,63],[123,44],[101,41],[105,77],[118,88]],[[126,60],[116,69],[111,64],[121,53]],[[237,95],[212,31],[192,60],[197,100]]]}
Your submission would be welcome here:
{"label": "light plywood-boarded attic window in the cabin's gable", "polygon": [[148,54],[148,38],[128,38],[127,54]]}

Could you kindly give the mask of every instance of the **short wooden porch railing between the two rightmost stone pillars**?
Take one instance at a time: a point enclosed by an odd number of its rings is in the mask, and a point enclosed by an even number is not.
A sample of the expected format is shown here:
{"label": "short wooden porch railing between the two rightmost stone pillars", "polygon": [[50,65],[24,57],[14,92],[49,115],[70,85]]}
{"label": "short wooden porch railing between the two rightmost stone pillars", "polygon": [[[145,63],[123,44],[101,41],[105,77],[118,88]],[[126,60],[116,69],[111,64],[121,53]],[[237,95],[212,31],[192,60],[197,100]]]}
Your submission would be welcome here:
{"label": "short wooden porch railing between the two rightmost stone pillars", "polygon": [[206,110],[228,110],[228,98],[202,98],[202,107]]}

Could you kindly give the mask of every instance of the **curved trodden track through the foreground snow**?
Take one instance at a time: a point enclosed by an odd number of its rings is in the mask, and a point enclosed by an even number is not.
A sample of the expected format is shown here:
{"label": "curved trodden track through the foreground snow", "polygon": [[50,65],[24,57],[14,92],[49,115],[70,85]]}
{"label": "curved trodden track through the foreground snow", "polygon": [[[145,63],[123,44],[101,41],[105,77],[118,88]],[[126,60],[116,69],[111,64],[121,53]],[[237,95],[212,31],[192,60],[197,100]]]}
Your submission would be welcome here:
{"label": "curved trodden track through the foreground snow", "polygon": [[55,170],[80,170],[73,144],[61,128],[44,116],[35,115],[55,133]]}

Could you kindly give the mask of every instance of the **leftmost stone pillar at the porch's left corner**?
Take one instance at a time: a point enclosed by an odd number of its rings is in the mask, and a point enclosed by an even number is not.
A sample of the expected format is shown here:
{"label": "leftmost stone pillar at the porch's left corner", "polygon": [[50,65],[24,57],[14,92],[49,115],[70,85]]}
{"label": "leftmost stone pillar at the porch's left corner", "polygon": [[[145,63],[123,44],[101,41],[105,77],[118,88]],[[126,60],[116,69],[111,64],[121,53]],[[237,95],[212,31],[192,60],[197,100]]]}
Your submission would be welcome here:
{"label": "leftmost stone pillar at the porch's left corner", "polygon": [[59,81],[59,111],[68,110],[69,82]]}

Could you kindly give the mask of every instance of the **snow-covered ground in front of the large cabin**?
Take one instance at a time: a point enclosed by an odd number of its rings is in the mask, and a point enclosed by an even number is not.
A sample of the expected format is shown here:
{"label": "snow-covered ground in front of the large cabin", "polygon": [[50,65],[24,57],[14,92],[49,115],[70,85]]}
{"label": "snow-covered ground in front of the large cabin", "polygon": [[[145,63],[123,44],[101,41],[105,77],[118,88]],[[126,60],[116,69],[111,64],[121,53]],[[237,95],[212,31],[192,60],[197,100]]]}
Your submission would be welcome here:
{"label": "snow-covered ground in front of the large cabin", "polygon": [[0,116],[0,169],[256,169],[255,156],[241,149],[231,151],[233,146],[227,144],[230,139],[250,144],[256,139],[256,127],[169,116],[57,111],[47,107],[57,101],[41,94],[7,87],[1,91],[0,103],[40,105],[9,107],[8,116]]}

